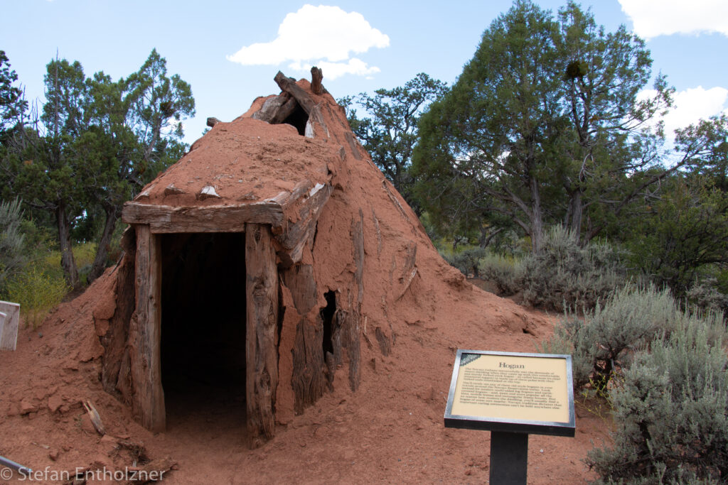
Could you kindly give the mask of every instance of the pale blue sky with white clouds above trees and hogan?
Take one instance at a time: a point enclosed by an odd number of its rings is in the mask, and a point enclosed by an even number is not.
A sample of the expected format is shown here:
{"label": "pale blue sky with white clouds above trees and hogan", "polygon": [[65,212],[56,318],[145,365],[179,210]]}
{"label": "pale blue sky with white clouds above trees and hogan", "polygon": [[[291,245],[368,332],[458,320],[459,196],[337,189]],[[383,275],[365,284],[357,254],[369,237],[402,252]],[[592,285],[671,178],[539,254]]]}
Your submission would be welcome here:
{"label": "pale blue sky with white clouds above trees and hogan", "polygon": [[[566,0],[537,3],[556,11]],[[728,110],[728,1],[580,3],[608,31],[624,24],[646,39],[654,73],[667,75],[677,89],[666,127]],[[451,84],[511,1],[305,6],[286,0],[0,0],[0,49],[26,97],[42,104],[45,65],[57,50],[82,63],[87,76],[104,71],[118,79],[136,71],[156,47],[169,73],[191,84],[197,103],[197,116],[185,122],[191,143],[207,116],[229,121],[257,96],[277,93],[273,76],[279,69],[300,78],[309,76],[308,65],[324,65],[324,84],[337,98],[400,86],[419,72]]]}

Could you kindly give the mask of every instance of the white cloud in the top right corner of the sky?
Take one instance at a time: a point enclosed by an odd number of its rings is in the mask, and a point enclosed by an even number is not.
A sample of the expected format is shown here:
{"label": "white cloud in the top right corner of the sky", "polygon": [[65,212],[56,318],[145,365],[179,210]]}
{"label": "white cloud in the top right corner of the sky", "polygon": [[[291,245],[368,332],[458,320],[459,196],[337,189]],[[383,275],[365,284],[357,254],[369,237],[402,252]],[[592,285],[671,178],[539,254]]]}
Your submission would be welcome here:
{"label": "white cloud in the top right corner of the sky", "polygon": [[726,0],[619,0],[644,39],[673,33],[718,32],[728,36]]}

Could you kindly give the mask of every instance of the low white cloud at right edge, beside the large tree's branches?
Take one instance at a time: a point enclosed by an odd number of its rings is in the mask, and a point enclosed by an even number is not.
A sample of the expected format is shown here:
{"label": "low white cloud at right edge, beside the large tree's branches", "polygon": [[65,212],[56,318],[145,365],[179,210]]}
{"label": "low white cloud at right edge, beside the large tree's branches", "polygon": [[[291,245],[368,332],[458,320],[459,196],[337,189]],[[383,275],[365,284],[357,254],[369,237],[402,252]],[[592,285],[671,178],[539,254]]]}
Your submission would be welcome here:
{"label": "low white cloud at right edge, beside the large tree's branches", "polygon": [[[653,89],[645,89],[640,92],[639,97],[644,99],[655,94]],[[728,114],[727,100],[728,89],[723,87],[704,89],[698,86],[676,92],[673,95],[673,108],[662,118],[665,122],[665,136],[671,140],[678,128],[687,127],[700,119],[708,119],[720,113]]]}

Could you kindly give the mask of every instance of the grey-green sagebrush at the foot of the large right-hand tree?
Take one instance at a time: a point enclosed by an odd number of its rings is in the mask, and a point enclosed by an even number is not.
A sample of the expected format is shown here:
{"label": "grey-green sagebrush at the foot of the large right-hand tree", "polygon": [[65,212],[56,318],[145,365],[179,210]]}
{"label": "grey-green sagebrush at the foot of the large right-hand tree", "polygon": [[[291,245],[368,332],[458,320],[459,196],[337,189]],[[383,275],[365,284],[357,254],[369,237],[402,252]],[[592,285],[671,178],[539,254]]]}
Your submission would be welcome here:
{"label": "grey-green sagebrush at the foot of the large right-hand tree", "polygon": [[561,226],[544,235],[542,248],[523,258],[523,302],[557,311],[593,308],[625,282],[617,252],[607,244],[579,246]]}

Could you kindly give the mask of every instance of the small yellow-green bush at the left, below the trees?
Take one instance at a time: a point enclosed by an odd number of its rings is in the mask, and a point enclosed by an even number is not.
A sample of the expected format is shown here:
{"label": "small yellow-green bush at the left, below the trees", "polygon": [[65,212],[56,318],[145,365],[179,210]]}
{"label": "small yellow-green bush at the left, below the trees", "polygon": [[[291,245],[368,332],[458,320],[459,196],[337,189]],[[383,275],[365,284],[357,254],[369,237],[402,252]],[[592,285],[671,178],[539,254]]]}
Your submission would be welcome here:
{"label": "small yellow-green bush at the left, below the trees", "polygon": [[8,282],[6,293],[8,300],[20,303],[25,324],[36,328],[69,289],[63,275],[53,275],[37,265],[30,265]]}

